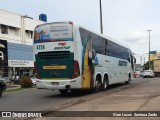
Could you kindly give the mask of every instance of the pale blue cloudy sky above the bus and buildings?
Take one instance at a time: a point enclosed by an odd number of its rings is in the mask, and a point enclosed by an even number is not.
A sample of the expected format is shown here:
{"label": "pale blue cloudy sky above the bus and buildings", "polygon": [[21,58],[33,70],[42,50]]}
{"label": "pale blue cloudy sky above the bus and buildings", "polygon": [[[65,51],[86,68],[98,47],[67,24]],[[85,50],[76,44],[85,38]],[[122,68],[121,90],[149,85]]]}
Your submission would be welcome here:
{"label": "pale blue cloudy sky above the bus and buildings", "polygon": [[[127,45],[140,63],[160,52],[160,0],[101,0],[103,34]],[[100,33],[99,0],[0,0],[0,9],[48,22],[73,21]],[[142,63],[143,63],[142,62]]]}

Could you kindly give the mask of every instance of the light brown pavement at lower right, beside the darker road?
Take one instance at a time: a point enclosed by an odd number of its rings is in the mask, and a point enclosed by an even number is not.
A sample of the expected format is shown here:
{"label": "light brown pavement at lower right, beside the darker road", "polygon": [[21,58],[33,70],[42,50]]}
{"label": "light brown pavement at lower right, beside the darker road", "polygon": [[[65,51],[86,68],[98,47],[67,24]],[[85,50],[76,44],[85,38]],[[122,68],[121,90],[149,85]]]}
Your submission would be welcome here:
{"label": "light brown pavement at lower right, beside the darker road", "polygon": [[[105,95],[88,102],[77,104],[61,111],[160,111],[160,78],[153,78],[143,84]],[[74,114],[74,112],[73,112]],[[82,115],[83,116],[83,115]],[[74,117],[76,120],[159,120],[160,117]],[[50,117],[36,120],[49,120]],[[55,117],[54,120],[70,120],[71,117]]]}

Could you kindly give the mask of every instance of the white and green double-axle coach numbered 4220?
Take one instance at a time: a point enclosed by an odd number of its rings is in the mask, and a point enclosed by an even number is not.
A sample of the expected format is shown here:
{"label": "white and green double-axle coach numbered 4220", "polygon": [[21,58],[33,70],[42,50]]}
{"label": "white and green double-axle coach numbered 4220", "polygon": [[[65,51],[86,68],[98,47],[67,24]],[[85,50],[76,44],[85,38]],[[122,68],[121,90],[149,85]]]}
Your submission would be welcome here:
{"label": "white and green double-axle coach numbered 4220", "polygon": [[99,91],[132,79],[134,57],[128,47],[73,22],[36,26],[33,52],[38,89]]}

